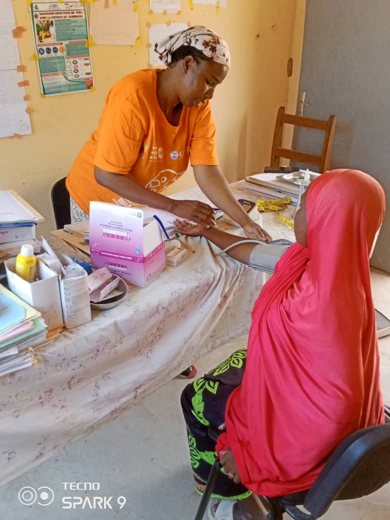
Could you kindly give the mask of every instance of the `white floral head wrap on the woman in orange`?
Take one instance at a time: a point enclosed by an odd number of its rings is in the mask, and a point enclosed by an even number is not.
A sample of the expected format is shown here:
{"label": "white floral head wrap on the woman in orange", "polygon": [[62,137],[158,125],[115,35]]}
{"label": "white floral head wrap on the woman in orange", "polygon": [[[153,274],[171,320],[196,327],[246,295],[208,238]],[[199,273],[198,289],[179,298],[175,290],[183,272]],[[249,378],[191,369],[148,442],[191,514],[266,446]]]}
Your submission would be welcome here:
{"label": "white floral head wrap on the woman in orange", "polygon": [[207,58],[210,58],[217,63],[222,63],[229,69],[230,67],[230,52],[228,44],[222,40],[215,32],[210,31],[202,25],[194,25],[171,34],[165,40],[154,45],[154,51],[159,54],[160,60],[169,65],[172,61],[172,54],[175,50],[188,45],[200,50]]}

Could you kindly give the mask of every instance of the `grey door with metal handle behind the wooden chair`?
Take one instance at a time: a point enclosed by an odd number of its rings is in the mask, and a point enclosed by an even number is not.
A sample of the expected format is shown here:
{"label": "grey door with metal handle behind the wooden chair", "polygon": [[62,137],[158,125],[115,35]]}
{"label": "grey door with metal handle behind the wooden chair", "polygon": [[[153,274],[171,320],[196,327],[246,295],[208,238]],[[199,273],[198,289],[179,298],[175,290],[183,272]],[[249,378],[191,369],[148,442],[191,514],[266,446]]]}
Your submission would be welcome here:
{"label": "grey door with metal handle behind the wooden chair", "polygon": [[[304,115],[337,115],[331,168],[371,174],[383,186],[388,206],[389,25],[389,0],[307,0],[299,88],[309,103]],[[316,132],[295,134],[295,146],[318,153]],[[390,272],[390,207],[371,264]]]}

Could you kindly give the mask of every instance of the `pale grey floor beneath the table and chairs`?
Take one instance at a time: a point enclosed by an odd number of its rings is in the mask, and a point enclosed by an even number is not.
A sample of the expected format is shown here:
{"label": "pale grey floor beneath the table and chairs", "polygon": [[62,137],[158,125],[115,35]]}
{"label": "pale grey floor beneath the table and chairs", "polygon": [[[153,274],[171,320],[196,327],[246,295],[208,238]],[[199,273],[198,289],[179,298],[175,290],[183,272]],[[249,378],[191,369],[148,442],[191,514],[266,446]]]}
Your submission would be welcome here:
{"label": "pale grey floor beneath the table and chairs", "polygon": [[[372,271],[375,306],[390,316],[390,275]],[[246,337],[220,348],[198,363],[199,372],[209,370]],[[390,336],[380,340],[381,375],[385,401],[390,402]],[[78,441],[35,469],[0,488],[0,518],[11,520],[191,520],[199,503],[188,461],[179,396],[186,381],[174,380],[137,408],[107,427]],[[0,414],[1,438],[1,414]],[[1,471],[1,469],[0,469]],[[112,510],[62,509],[63,482],[98,482],[100,496],[112,496]],[[18,491],[23,486],[49,486],[55,499],[47,507],[23,506]],[[115,500],[126,498],[123,509]],[[390,485],[363,499],[332,505],[324,520],[390,519]]]}

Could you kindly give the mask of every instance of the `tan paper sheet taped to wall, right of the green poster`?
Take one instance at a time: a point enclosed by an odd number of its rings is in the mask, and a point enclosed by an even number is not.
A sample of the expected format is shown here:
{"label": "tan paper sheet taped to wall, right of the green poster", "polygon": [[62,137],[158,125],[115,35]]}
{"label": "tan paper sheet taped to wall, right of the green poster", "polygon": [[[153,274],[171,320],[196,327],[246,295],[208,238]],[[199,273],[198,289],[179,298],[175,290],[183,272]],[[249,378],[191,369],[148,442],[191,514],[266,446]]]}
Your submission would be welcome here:
{"label": "tan paper sheet taped to wall, right of the green poster", "polygon": [[97,44],[134,45],[139,36],[138,12],[132,0],[109,3],[105,9],[103,0],[90,6],[89,33]]}

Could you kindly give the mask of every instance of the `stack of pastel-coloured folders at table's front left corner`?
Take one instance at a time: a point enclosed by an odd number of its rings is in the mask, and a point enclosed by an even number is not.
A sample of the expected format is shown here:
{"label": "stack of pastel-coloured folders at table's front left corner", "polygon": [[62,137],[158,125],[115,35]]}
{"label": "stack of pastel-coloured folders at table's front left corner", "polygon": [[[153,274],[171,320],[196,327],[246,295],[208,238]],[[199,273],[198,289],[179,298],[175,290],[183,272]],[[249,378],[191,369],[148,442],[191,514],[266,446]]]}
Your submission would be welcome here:
{"label": "stack of pastel-coloured folders at table's front left corner", "polygon": [[0,285],[0,376],[30,367],[27,349],[47,341],[41,313]]}

